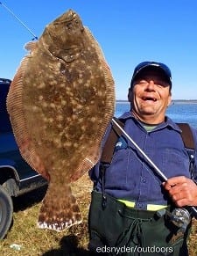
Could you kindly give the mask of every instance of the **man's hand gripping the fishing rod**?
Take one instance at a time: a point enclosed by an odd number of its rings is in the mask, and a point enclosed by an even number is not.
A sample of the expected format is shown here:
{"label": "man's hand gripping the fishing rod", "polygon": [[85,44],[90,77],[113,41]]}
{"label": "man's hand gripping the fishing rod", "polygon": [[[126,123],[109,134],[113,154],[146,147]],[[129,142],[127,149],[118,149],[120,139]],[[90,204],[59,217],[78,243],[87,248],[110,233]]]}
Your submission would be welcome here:
{"label": "man's hand gripping the fishing rod", "polygon": [[167,179],[163,186],[177,206],[197,206],[197,186],[192,179],[185,176],[173,177]]}

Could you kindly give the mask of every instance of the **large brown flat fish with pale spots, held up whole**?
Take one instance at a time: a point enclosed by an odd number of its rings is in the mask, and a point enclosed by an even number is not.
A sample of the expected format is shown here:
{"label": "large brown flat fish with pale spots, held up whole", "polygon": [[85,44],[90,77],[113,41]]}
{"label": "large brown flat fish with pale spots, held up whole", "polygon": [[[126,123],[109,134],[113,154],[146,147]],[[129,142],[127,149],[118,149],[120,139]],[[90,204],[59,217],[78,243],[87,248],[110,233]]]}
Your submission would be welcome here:
{"label": "large brown flat fish with pale spots, held up whole", "polygon": [[26,48],[7,108],[21,155],[49,181],[39,227],[64,230],[81,223],[70,184],[100,157],[115,110],[114,80],[102,49],[72,10]]}

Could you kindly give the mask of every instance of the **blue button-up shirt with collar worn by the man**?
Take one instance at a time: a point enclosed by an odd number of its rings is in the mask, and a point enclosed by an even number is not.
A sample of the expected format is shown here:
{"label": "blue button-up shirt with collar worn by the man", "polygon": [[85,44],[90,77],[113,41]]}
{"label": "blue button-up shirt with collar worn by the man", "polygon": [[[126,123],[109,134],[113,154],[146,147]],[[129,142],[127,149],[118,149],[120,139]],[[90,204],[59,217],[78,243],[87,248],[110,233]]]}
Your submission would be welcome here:
{"label": "blue button-up shirt with collar worn by the man", "polygon": [[[144,150],[167,178],[190,177],[189,157],[180,135],[179,127],[168,117],[151,132],[130,113],[123,113],[124,130]],[[110,129],[110,128],[109,128]],[[109,129],[103,144],[109,135]],[[197,130],[192,128],[197,145]],[[197,152],[195,151],[197,163]],[[100,163],[89,172],[96,191],[102,191]],[[195,170],[197,172],[197,169]],[[195,177],[196,179],[197,177]],[[112,162],[105,172],[105,193],[117,199],[135,201],[136,208],[146,208],[147,204],[167,205],[170,199],[161,186],[162,180],[135,147],[123,135],[117,141]]]}

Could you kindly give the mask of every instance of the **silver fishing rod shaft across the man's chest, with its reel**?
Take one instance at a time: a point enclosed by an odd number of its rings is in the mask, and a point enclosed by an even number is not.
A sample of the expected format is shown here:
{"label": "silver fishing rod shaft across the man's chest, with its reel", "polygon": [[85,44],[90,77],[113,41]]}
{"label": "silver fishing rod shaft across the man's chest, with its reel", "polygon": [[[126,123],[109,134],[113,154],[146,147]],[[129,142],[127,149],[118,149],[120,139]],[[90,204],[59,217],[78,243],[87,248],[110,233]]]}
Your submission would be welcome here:
{"label": "silver fishing rod shaft across the man's chest, with its reel", "polygon": [[[158,168],[157,165],[155,165],[152,161],[151,158],[148,157],[144,151],[137,145],[137,143],[134,142],[134,140],[130,137],[130,135],[128,135],[123,128],[117,123],[117,121],[112,118],[112,122],[116,125],[117,128],[119,128],[121,130],[121,132],[123,133],[123,135],[125,135],[130,143],[132,143],[136,149],[142,154],[142,156],[147,160],[147,162],[154,168],[155,172],[158,173],[158,175],[164,179],[164,181],[167,181],[167,177],[165,176],[165,174],[163,172],[161,172],[161,170]],[[193,206],[189,206],[186,207],[189,212],[191,211],[193,213],[194,216],[197,216],[197,209],[194,208]],[[186,208],[175,208],[172,213],[167,212],[167,215],[172,217],[172,222],[179,226],[180,228],[182,228],[183,230],[186,230],[186,227],[188,225],[188,223],[190,223],[190,214],[189,212],[186,210]],[[164,214],[164,212],[163,212]],[[163,215],[162,214],[162,215]]]}

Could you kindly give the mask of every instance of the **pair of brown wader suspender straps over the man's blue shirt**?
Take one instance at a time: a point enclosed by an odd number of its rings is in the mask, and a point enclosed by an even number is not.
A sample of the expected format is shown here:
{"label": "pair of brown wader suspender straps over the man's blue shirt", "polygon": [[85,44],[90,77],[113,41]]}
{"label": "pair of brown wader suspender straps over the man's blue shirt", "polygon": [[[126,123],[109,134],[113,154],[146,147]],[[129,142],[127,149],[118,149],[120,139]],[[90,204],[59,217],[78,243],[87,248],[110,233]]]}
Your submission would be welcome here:
{"label": "pair of brown wader suspender straps over the man's blue shirt", "polygon": [[[117,118],[114,117],[114,119],[118,122],[118,124],[123,128],[124,123]],[[185,145],[187,154],[189,156],[189,172],[191,175],[191,179],[194,178],[194,140],[193,140],[193,133],[191,128],[187,123],[177,123],[179,128],[182,130],[181,137],[183,140],[183,143]],[[102,171],[102,207],[105,207],[106,204],[106,196],[104,193],[104,172],[106,168],[111,164],[111,160],[113,157],[114,149],[116,146],[117,138],[122,135],[122,131],[120,131],[119,128],[116,127],[116,125],[113,125],[110,132],[109,137],[104,145],[104,148],[102,150],[102,157],[101,157],[101,171]]]}

